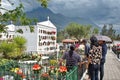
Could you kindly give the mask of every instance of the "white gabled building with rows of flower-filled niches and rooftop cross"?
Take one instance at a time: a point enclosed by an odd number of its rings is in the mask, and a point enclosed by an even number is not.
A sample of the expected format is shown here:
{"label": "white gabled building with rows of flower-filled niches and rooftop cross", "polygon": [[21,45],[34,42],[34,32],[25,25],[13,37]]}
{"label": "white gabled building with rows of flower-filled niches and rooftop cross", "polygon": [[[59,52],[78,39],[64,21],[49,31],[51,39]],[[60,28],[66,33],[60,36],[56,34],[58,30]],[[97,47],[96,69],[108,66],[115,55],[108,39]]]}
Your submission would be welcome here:
{"label": "white gabled building with rows of flower-filled niches and rooftop cross", "polygon": [[14,32],[21,29],[23,33],[13,33],[15,36],[20,35],[26,38],[26,52],[41,54],[54,52],[56,50],[57,29],[49,17],[47,21],[38,22],[37,25],[32,26],[34,32],[30,32],[29,26],[16,26]]}

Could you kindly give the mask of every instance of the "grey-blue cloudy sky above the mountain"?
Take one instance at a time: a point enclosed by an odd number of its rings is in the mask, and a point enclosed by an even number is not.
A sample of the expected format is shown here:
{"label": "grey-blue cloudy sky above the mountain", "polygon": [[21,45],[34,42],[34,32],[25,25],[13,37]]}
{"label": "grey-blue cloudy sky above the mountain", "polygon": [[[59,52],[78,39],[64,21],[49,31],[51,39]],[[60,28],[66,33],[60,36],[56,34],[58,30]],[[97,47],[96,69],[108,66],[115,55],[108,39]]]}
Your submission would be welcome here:
{"label": "grey-blue cloudy sky above the mountain", "polygon": [[[15,6],[19,0],[11,0]],[[40,6],[36,0],[21,0],[26,11]],[[13,8],[7,0],[3,0],[6,8]],[[49,9],[54,13],[61,13],[69,17],[84,17],[96,21],[98,24],[120,24],[120,0],[50,0]]]}

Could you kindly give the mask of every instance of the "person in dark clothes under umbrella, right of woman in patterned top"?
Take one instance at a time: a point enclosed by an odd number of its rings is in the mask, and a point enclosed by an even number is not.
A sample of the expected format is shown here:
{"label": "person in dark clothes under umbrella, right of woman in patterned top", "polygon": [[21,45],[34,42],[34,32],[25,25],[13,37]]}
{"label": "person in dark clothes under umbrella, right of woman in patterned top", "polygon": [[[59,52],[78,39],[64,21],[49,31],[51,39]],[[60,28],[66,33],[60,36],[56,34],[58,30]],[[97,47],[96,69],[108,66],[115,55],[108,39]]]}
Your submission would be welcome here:
{"label": "person in dark clothes under umbrella, right of woman in patterned top", "polygon": [[104,77],[104,63],[106,60],[107,54],[107,45],[105,41],[99,41],[99,44],[102,46],[102,59],[100,61],[100,80],[103,80]]}

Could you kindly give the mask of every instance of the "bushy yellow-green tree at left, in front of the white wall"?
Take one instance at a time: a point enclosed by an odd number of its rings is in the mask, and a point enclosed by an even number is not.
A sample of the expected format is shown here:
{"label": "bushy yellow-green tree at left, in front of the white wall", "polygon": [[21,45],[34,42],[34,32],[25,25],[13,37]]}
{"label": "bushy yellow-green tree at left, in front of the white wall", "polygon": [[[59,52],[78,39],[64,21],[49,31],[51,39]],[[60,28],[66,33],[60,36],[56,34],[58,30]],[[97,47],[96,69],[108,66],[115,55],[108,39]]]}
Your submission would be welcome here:
{"label": "bushy yellow-green tree at left, in front of the white wall", "polygon": [[0,44],[0,52],[6,59],[19,59],[26,49],[25,43],[26,39],[22,36],[15,37],[12,42],[3,41]]}

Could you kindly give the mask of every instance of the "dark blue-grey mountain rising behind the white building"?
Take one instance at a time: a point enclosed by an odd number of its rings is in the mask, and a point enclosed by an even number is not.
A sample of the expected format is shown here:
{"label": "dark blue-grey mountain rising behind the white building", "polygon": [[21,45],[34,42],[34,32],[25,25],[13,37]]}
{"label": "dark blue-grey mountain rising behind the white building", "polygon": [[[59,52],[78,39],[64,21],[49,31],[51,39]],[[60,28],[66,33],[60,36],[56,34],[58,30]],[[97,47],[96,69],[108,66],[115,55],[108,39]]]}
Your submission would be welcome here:
{"label": "dark blue-grey mountain rising behind the white building", "polygon": [[27,14],[27,17],[36,18],[38,19],[39,22],[47,20],[47,17],[49,16],[51,22],[55,24],[58,30],[64,29],[64,27],[67,26],[70,22],[76,22],[83,25],[89,24],[94,27],[98,27],[98,25],[96,25],[94,22],[92,22],[89,19],[79,18],[79,17],[66,17],[61,14],[53,13],[48,8],[39,7],[32,11],[26,12],[26,14]]}

